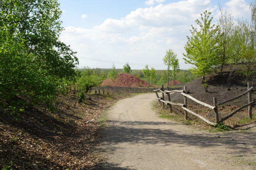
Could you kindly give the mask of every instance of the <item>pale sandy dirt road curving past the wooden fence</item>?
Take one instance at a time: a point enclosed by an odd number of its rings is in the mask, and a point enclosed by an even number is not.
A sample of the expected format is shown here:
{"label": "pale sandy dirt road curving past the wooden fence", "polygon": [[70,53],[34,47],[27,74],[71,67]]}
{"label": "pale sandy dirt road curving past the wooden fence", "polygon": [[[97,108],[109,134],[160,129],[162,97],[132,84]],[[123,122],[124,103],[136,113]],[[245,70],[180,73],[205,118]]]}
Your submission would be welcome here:
{"label": "pale sandy dirt road curving past the wooden fence", "polygon": [[[255,170],[256,133],[205,130],[158,118],[155,94],[118,101],[108,111],[97,170]],[[252,124],[255,126],[255,124]]]}

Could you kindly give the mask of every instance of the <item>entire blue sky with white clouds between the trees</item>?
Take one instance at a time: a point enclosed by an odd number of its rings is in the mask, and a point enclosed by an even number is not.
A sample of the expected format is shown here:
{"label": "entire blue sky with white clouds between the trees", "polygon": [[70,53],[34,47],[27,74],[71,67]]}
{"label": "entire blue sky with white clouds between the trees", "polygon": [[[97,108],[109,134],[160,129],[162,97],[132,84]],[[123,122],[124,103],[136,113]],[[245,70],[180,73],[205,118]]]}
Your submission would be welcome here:
{"label": "entire blue sky with white clouds between the trees", "polygon": [[78,68],[166,69],[162,58],[166,50],[177,53],[181,69],[186,36],[191,24],[205,10],[213,23],[219,5],[234,20],[250,20],[252,0],[59,0],[62,10],[60,40],[77,52]]}

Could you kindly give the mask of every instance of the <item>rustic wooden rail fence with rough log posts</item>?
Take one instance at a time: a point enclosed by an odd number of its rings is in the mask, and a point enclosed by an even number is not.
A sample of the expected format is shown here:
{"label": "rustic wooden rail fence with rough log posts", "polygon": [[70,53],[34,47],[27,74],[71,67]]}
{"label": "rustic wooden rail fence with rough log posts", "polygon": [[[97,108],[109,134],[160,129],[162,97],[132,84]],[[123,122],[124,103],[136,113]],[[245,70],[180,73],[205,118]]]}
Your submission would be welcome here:
{"label": "rustic wooden rail fence with rough log posts", "polygon": [[[189,112],[192,115],[195,115],[198,118],[202,119],[203,121],[206,121],[208,124],[215,125],[216,123],[221,123],[221,122],[227,120],[228,118],[230,118],[235,113],[237,113],[238,111],[242,110],[245,107],[248,107],[248,117],[251,119],[252,118],[252,105],[255,104],[255,101],[252,101],[252,96],[251,96],[251,91],[252,90],[253,90],[253,87],[251,86],[251,83],[248,82],[247,91],[245,91],[244,93],[242,93],[242,94],[240,94],[240,95],[238,95],[238,96],[236,96],[236,97],[234,97],[232,99],[228,99],[226,101],[219,102],[219,103],[217,102],[218,101],[217,98],[213,98],[213,106],[209,105],[209,104],[206,104],[206,103],[204,103],[202,101],[199,101],[199,100],[193,98],[192,96],[190,96],[189,94],[187,94],[187,87],[186,86],[184,86],[184,90],[172,90],[172,91],[169,91],[168,87],[167,87],[167,90],[164,90],[163,85],[162,85],[161,88],[155,89],[153,91],[155,91],[155,94],[157,95],[157,100],[159,101],[160,104],[162,104],[163,109],[165,108],[165,104],[167,104],[169,106],[169,108],[170,108],[170,112],[173,113],[172,105],[180,105],[181,108],[184,110],[185,120],[188,119],[187,113]],[[158,91],[160,91],[162,93],[162,98],[160,98],[158,96],[158,93],[157,93]],[[181,95],[184,96],[184,103],[183,104],[171,102],[170,94],[177,93],[177,92],[181,93]],[[167,94],[168,100],[165,100],[165,94]],[[244,96],[246,94],[248,94],[248,104],[243,105],[242,107],[238,108],[234,112],[230,113],[230,115],[228,115],[228,116],[222,118],[221,120],[219,120],[219,112],[218,112],[218,106],[219,105],[225,104],[225,103],[233,101],[235,99],[238,99],[238,98],[240,98],[240,97],[242,97],[242,96]],[[213,109],[214,113],[215,113],[215,123],[213,123],[213,122],[207,120],[206,118],[198,115],[197,113],[194,113],[191,110],[187,109],[187,98],[189,98],[192,101],[195,101],[198,104],[201,104],[201,105],[203,105],[205,107]]]}

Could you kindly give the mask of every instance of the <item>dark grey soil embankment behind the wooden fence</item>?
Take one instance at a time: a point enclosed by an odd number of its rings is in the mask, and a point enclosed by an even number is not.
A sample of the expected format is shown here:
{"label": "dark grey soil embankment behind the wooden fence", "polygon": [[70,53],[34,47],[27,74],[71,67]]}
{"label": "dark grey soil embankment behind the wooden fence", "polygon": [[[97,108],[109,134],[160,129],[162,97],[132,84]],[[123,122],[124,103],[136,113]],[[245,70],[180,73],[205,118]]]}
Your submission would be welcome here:
{"label": "dark grey soil embankment behind the wooden fence", "polygon": [[[244,82],[245,78],[239,74],[234,75],[232,85],[229,90],[227,87],[228,72],[225,72],[222,77],[219,74],[212,74],[206,76],[206,83],[209,85],[208,92],[202,86],[202,77],[197,77],[187,84],[188,93],[194,98],[203,101],[207,104],[213,105],[213,97],[218,99],[218,102],[226,101],[227,99],[234,98],[247,90],[247,84]],[[250,81],[250,80],[249,80]],[[256,85],[253,83],[253,85]],[[253,99],[255,99],[256,91],[253,91]],[[183,102],[183,96],[178,93],[171,94],[173,101]],[[190,102],[190,101],[189,101]],[[192,102],[192,101],[191,101]],[[245,95],[237,99],[236,104],[248,103],[248,97]]]}

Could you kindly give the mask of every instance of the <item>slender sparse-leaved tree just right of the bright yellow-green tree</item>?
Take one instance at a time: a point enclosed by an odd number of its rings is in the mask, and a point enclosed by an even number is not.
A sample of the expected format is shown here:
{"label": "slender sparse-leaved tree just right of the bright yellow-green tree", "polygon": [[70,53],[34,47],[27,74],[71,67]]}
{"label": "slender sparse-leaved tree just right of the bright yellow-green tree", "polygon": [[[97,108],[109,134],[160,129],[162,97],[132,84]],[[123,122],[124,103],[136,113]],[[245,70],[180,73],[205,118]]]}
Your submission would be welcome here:
{"label": "slender sparse-leaved tree just right of the bright yellow-green tree", "polygon": [[219,6],[219,10],[221,15],[219,16],[218,24],[220,31],[219,38],[219,57],[221,64],[221,76],[224,64],[227,63],[229,57],[231,57],[230,53],[230,32],[232,31],[232,26],[234,25],[233,17],[226,10],[223,11],[223,8]]}

